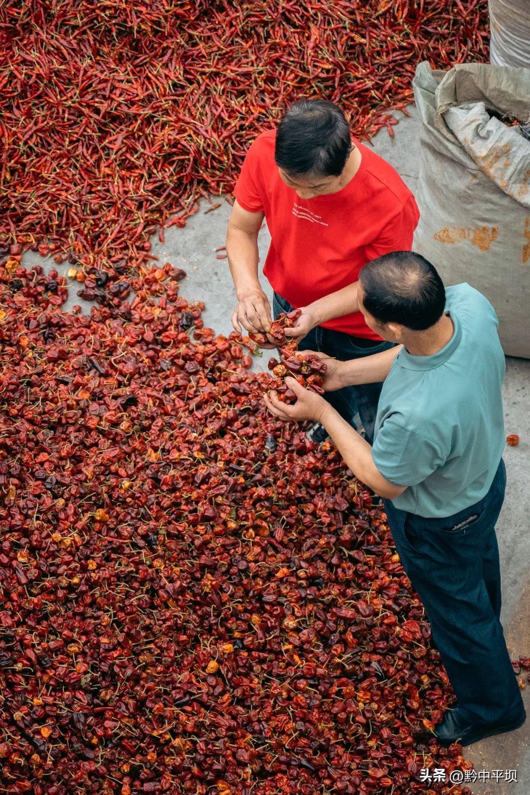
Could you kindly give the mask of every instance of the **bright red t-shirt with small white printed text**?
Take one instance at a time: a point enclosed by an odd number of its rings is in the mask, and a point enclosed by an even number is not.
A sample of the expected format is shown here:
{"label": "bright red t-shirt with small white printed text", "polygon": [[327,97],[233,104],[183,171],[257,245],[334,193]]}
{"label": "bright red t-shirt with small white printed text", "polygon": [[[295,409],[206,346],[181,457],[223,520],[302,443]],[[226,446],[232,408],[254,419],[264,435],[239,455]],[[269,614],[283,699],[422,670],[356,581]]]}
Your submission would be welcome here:
{"label": "bright red t-shirt with small white printed text", "polygon": [[[361,165],[342,190],[300,199],[274,162],[276,130],[250,146],[234,196],[244,210],[265,212],[271,244],[264,273],[289,304],[307,306],[357,281],[362,266],[390,251],[409,251],[420,213],[399,174],[358,141]],[[380,339],[361,312],[322,324],[338,332]]]}

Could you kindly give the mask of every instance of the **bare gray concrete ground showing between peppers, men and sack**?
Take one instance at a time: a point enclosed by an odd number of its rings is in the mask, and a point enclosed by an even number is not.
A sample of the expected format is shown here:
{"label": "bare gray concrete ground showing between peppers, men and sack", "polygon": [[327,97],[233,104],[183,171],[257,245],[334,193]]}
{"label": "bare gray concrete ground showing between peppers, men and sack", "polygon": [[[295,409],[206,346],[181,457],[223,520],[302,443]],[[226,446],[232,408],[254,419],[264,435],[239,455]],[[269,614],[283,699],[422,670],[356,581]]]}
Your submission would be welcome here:
{"label": "bare gray concrete ground showing between peppers, men and sack", "polygon": [[[400,117],[402,114],[400,114]],[[414,108],[409,118],[401,118],[394,128],[395,136],[390,138],[386,130],[381,130],[373,138],[373,146],[377,153],[385,157],[404,178],[414,191],[418,176],[420,122]],[[204,301],[206,311],[203,318],[207,326],[216,332],[228,334],[231,330],[230,315],[234,308],[235,293],[230,278],[227,261],[216,259],[214,249],[223,246],[226,235],[226,223],[231,207],[222,202],[219,209],[205,215],[207,203],[203,203],[199,212],[189,219],[184,229],[172,227],[165,232],[163,245],[153,239],[152,253],[163,262],[172,262],[188,272],[188,278],[181,282],[181,290],[185,297]],[[269,232],[264,227],[259,237],[261,266],[269,246]],[[25,254],[24,264],[42,264],[45,268],[53,265],[51,261],[43,261],[38,255]],[[60,272],[66,272],[68,266],[55,266]],[[265,279],[262,284],[271,297],[272,291]],[[78,286],[72,285],[67,308],[73,304],[82,304],[87,311],[89,304],[84,304],[75,293]],[[257,359],[254,369],[265,369],[264,359]],[[518,433],[520,444],[516,448],[506,448],[505,462],[508,471],[508,489],[505,506],[497,525],[499,548],[501,553],[501,569],[503,579],[504,605],[502,622],[513,657],[520,654],[530,656],[530,580],[528,561],[530,545],[528,545],[528,512],[530,511],[530,361],[524,359],[507,359],[505,380],[505,417],[506,432]],[[524,675],[524,678],[525,675]],[[530,684],[524,692],[527,712],[530,712]],[[517,782],[505,784],[504,778],[496,783],[494,780],[472,785],[474,795],[523,795],[530,790],[530,750],[528,735],[530,719],[519,731],[503,737],[492,738],[478,743],[466,750],[466,758],[470,758],[476,770],[516,770]]]}

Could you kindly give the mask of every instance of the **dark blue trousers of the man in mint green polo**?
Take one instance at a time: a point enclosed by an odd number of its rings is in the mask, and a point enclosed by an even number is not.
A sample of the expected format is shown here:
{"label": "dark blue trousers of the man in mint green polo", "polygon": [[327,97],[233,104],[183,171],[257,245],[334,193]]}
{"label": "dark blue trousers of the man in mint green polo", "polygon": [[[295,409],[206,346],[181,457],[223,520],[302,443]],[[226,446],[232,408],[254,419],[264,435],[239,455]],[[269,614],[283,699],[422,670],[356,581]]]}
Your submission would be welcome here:
{"label": "dark blue trousers of the man in mint green polo", "polygon": [[425,519],[385,499],[397,552],[424,603],[458,708],[481,723],[516,715],[522,706],[499,621],[495,522],[505,486],[501,460],[486,497],[453,516]]}

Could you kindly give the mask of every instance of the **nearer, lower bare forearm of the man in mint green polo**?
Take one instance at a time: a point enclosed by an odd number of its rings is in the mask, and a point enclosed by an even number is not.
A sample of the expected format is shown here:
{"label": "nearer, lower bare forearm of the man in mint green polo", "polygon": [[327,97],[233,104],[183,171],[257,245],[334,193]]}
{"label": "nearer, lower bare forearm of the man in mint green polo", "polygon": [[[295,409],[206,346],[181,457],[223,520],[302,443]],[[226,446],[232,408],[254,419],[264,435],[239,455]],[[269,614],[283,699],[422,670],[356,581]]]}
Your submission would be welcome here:
{"label": "nearer, lower bare forearm of the man in mint green polo", "polygon": [[331,405],[326,405],[323,409],[320,422],[335,442],[335,446],[355,477],[361,480],[362,483],[366,483],[366,486],[372,489],[375,494],[393,499],[404,491],[402,487],[389,483],[381,475],[381,472],[373,463],[371,446],[366,439],[359,436],[358,432],[346,420],[342,419]]}

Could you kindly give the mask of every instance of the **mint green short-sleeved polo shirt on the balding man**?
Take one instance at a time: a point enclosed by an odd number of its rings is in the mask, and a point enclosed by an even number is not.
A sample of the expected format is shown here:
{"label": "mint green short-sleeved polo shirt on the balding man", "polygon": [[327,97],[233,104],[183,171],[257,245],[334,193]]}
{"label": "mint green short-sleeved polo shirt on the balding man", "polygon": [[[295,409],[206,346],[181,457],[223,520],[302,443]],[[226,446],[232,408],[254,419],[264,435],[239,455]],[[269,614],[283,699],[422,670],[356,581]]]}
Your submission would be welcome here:
{"label": "mint green short-sleeved polo shirt on the balding man", "polygon": [[455,332],[433,356],[401,349],[383,384],[372,449],[381,475],[407,487],[394,506],[425,518],[482,499],[505,447],[497,315],[468,284],[446,295]]}

